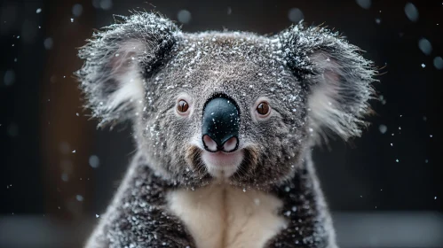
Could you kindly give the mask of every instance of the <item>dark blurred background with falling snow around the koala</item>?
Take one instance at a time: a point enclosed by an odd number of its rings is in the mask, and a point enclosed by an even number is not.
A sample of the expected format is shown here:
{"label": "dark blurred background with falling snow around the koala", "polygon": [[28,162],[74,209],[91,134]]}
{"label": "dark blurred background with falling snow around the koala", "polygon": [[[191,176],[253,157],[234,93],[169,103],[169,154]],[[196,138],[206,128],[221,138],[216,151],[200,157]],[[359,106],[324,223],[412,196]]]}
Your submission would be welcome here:
{"label": "dark blurred background with falling snow around the koala", "polygon": [[0,247],[80,247],[131,159],[131,129],[97,130],[73,72],[94,29],[131,10],[186,32],[336,27],[381,67],[372,126],[314,155],[342,247],[443,247],[442,1],[0,2]]}

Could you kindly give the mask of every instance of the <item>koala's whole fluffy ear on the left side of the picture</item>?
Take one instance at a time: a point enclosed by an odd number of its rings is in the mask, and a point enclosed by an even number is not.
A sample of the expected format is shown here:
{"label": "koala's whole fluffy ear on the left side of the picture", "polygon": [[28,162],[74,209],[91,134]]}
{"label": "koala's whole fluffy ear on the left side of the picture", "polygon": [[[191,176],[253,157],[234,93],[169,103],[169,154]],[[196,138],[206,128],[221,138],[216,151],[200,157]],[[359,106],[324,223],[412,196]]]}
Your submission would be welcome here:
{"label": "koala's whole fluffy ear on the left side of the picture", "polygon": [[75,73],[99,126],[131,118],[143,105],[144,77],[162,65],[180,31],[170,20],[138,12],[92,35]]}

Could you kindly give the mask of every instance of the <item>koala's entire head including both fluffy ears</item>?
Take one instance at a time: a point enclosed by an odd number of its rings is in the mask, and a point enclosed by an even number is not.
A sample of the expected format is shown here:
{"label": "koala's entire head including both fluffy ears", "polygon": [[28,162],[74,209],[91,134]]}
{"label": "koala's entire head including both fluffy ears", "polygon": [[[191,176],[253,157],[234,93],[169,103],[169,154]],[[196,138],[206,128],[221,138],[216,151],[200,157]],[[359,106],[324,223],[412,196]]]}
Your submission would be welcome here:
{"label": "koala's entire head including both fluffy ears", "polygon": [[173,182],[266,187],[326,133],[360,136],[375,71],[328,29],[186,34],[152,13],[121,19],[80,50],[77,76],[100,125],[131,120],[146,164]]}

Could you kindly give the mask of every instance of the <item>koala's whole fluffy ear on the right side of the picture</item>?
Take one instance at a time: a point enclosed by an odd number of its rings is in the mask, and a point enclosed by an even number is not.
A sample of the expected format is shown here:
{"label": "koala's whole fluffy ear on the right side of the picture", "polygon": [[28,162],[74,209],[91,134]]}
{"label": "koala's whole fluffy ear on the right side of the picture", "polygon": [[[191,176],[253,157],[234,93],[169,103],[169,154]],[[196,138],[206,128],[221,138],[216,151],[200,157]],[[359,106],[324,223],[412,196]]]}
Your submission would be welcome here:
{"label": "koala's whole fluffy ear on the right side of the picture", "polygon": [[277,35],[293,74],[310,90],[308,118],[315,137],[333,131],[347,140],[360,136],[370,111],[371,83],[376,74],[360,49],[337,33],[300,23]]}

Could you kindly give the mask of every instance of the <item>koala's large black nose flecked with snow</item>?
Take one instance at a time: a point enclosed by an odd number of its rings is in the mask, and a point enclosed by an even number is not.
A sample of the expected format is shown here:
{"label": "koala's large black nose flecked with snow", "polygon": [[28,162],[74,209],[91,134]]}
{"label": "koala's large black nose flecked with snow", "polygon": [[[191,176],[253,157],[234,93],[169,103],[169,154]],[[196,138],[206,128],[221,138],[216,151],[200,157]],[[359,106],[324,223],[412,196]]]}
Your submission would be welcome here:
{"label": "koala's large black nose flecked with snow", "polygon": [[237,150],[240,111],[233,99],[214,97],[203,108],[202,141],[206,151]]}

